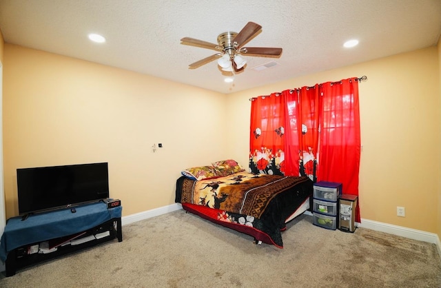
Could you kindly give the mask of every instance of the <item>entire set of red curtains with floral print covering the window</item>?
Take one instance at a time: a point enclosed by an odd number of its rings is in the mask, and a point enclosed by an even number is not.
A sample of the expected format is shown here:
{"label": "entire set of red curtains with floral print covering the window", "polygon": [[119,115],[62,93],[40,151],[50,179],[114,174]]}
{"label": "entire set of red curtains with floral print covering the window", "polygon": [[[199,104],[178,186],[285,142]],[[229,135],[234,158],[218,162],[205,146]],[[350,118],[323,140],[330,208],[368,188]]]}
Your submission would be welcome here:
{"label": "entire set of red curtains with floral print covering the window", "polygon": [[[253,99],[250,170],[338,182],[343,193],[358,196],[357,80],[316,84]],[[360,222],[359,207],[356,220]]]}

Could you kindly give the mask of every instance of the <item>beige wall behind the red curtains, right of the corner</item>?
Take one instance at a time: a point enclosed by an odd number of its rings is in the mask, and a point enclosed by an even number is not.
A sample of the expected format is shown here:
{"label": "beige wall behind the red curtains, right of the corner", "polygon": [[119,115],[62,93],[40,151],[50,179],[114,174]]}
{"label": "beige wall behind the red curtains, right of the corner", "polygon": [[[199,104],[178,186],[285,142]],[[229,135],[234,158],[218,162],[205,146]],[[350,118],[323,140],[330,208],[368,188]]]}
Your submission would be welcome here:
{"label": "beige wall behind the red curtains, right of the corner", "polygon": [[[247,163],[249,98],[367,76],[360,83],[362,218],[437,233],[440,227],[440,70],[427,48],[230,94],[232,157]],[[268,70],[269,71],[269,70]],[[233,125],[234,123],[234,125]],[[404,206],[406,216],[396,216]],[[439,232],[438,232],[439,233]]]}

